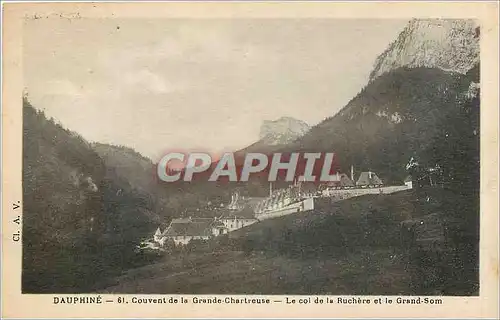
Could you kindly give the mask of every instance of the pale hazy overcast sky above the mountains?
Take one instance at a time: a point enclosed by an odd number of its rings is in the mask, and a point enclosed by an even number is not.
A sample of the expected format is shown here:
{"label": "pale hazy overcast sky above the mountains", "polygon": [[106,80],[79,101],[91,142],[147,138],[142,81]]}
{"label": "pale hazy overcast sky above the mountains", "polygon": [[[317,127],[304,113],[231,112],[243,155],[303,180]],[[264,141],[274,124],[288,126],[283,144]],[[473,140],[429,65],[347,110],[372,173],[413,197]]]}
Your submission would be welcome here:
{"label": "pale hazy overcast sky above the mountains", "polygon": [[366,85],[406,20],[26,21],[32,104],[90,141],[158,160],[245,147],[263,120],[317,124]]}

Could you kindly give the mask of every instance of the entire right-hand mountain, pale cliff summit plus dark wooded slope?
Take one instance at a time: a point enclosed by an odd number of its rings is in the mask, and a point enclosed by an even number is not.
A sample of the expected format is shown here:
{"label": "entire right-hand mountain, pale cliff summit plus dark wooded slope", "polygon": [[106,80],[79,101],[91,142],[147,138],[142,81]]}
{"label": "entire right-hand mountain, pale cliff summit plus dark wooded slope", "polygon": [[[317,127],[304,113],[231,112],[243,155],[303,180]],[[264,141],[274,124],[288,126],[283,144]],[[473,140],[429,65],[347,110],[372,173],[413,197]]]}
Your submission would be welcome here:
{"label": "entire right-hand mountain, pale cliff summit plus dark wooded slope", "polygon": [[479,36],[472,20],[410,21],[377,58],[367,86],[282,150],[333,150],[344,172],[354,165],[402,182],[412,155],[453,130],[465,130],[464,141],[479,131],[470,107],[479,92]]}

